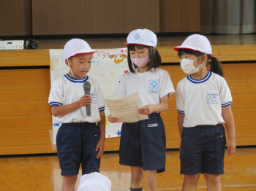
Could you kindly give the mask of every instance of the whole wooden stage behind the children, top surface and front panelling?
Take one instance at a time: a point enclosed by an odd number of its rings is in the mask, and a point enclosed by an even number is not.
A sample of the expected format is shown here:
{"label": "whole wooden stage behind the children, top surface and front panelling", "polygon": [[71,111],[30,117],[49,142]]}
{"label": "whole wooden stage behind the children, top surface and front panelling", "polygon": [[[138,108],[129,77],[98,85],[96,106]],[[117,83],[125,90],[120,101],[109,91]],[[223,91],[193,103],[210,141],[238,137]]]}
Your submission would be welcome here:
{"label": "whole wooden stage behind the children, top surface and front panelling", "polygon": [[[169,72],[175,88],[186,75],[180,66],[171,64],[179,62],[173,47],[184,39],[185,36],[159,37],[157,44],[162,63],[170,64],[161,68]],[[236,143],[256,145],[256,34],[214,35],[208,39],[213,55],[219,61],[229,62],[222,68],[233,95]],[[62,49],[67,40],[39,40],[37,50],[0,50],[0,155],[56,152],[49,136],[52,128],[48,105],[49,49]],[[94,49],[120,48],[124,47],[126,38],[86,41]],[[169,109],[162,113],[167,148],[178,148],[180,143],[175,104],[175,95],[172,95]],[[106,139],[105,150],[118,150],[118,145],[119,138]]]}

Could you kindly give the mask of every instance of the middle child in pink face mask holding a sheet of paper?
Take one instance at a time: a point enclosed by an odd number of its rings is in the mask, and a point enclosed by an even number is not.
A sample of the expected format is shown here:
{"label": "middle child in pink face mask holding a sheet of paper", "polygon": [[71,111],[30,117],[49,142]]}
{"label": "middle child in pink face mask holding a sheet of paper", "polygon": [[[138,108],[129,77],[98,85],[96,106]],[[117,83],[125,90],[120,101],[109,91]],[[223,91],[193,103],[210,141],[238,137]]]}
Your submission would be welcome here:
{"label": "middle child in pink face mask holding a sheet of paper", "polygon": [[[168,109],[168,98],[175,92],[167,71],[159,69],[161,56],[157,36],[148,29],[138,29],[127,37],[129,72],[121,77],[116,97],[138,92],[143,102],[139,114],[149,120],[125,122],[121,127],[119,163],[131,167],[132,191],[142,191],[143,170],[150,191],[157,190],[157,173],[165,171],[165,126],[160,112]],[[118,122],[108,116],[110,122]]]}

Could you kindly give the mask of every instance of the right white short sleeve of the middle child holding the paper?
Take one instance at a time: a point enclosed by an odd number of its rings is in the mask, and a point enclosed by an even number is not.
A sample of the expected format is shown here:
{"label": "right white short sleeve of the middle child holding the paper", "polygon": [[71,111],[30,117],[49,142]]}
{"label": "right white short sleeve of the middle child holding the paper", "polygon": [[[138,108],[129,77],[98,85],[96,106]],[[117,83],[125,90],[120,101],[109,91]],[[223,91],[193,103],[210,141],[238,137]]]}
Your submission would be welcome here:
{"label": "right white short sleeve of the middle child holding the paper", "polygon": [[170,95],[175,93],[173,82],[170,80],[170,75],[167,71],[162,70],[162,76],[160,78],[160,90],[159,90],[159,96],[160,98],[164,97],[168,94],[168,98],[170,98]]}

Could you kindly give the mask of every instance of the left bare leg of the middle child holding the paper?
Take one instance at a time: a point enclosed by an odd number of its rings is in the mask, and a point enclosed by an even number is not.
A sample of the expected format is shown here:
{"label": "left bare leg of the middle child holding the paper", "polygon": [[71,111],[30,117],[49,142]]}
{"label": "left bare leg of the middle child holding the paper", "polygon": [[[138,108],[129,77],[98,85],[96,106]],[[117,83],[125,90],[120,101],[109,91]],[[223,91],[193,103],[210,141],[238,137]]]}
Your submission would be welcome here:
{"label": "left bare leg of the middle child holding the paper", "polygon": [[143,181],[143,169],[138,166],[131,166],[131,188],[140,188],[142,187]]}

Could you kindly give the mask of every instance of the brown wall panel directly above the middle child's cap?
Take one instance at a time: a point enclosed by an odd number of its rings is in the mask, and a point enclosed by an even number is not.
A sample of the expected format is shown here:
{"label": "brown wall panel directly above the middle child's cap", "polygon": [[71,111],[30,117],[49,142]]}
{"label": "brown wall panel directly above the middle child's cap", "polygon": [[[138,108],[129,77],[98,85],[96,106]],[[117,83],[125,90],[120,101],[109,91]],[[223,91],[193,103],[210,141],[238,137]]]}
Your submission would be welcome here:
{"label": "brown wall panel directly above the middle child's cap", "polygon": [[158,0],[97,0],[97,34],[124,34],[138,28],[159,33]]}

